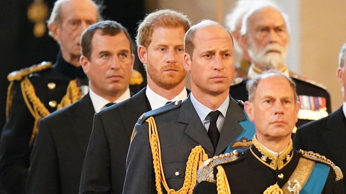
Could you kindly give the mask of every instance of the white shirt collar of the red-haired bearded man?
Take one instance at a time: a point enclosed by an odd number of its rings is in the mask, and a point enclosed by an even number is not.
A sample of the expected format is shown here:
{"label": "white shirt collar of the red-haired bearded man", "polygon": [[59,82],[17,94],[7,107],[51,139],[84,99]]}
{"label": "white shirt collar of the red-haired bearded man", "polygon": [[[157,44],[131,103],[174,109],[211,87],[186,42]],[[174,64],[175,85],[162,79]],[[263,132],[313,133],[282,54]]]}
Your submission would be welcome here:
{"label": "white shirt collar of the red-haired bearded man", "polygon": [[166,99],[158,94],[156,94],[150,87],[147,85],[147,89],[145,90],[145,95],[147,96],[150,106],[152,110],[156,108],[160,108],[164,106],[168,101],[176,101],[176,100],[184,100],[188,96],[188,92],[186,91],[186,87],[172,99]]}

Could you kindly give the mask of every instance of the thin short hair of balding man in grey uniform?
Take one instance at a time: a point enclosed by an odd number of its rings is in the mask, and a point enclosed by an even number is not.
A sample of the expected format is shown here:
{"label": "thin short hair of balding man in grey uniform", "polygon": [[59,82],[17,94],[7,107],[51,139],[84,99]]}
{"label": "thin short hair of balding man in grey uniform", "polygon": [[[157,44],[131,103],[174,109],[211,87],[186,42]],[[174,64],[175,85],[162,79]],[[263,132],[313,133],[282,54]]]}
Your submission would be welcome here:
{"label": "thin short hair of balding man in grey uniform", "polygon": [[225,28],[224,26],[222,26],[219,22],[213,21],[213,20],[202,20],[201,22],[191,26],[191,28],[185,33],[185,37],[184,37],[184,47],[185,47],[185,52],[188,53],[191,57],[192,60],[192,54],[193,54],[193,50],[194,50],[194,37],[196,35],[196,32],[198,29],[207,27],[207,26],[219,26],[225,29],[226,32],[228,32],[229,36],[233,41],[233,37],[231,35],[231,33],[228,31],[227,28]]}

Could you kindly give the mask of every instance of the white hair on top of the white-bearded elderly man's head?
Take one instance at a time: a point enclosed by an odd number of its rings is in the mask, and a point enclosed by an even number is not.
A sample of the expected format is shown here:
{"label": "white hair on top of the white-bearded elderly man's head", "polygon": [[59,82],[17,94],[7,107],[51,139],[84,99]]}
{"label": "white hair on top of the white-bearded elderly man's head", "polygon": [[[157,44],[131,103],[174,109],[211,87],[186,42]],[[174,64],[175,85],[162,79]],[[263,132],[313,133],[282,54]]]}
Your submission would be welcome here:
{"label": "white hair on top of the white-bearded elderly man's head", "polygon": [[277,11],[279,11],[285,21],[286,29],[288,33],[291,31],[290,29],[290,23],[288,20],[288,16],[286,13],[284,13],[274,2],[272,1],[257,1],[252,4],[251,9],[244,15],[243,17],[243,23],[242,23],[242,30],[241,34],[245,35],[248,32],[248,29],[250,28],[250,22],[249,18],[256,12],[261,11],[265,8],[274,8]]}

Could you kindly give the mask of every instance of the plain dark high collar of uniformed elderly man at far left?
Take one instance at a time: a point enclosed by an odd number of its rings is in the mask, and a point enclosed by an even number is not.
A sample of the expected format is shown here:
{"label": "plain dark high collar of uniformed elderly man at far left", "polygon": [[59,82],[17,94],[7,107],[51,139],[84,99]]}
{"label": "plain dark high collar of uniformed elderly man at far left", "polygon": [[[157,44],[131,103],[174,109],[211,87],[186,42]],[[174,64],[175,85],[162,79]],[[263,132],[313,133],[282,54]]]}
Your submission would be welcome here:
{"label": "plain dark high collar of uniformed elderly man at far left", "polygon": [[54,64],[54,68],[63,74],[64,76],[67,76],[71,79],[75,78],[86,78],[86,75],[84,74],[83,68],[81,66],[76,67],[69,62],[65,61],[65,59],[62,57],[61,51],[58,52],[58,55],[56,56],[56,62]]}

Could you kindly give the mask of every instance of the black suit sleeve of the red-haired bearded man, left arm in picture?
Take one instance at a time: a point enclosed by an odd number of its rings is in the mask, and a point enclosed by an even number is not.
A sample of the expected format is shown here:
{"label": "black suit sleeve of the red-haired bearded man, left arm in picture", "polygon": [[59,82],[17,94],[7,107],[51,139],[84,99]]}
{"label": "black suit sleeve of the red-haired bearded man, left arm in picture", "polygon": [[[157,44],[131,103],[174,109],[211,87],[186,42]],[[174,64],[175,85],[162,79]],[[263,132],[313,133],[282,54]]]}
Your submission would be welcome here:
{"label": "black suit sleeve of the red-haired bearded man, left arm in picture", "polygon": [[99,114],[95,114],[82,168],[80,194],[111,193],[110,162],[110,151],[104,127]]}

